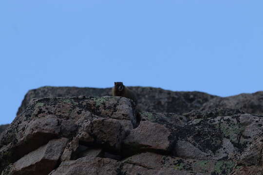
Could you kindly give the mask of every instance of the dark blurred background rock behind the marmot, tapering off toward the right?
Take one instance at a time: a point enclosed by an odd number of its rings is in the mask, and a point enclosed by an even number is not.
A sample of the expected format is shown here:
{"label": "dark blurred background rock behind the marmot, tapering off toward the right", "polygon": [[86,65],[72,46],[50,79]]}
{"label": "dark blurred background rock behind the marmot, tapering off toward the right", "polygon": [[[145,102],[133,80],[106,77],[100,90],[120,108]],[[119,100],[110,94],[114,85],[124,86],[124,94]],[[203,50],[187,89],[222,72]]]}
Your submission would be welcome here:
{"label": "dark blurred background rock behind the marmot, tapering off toward the right", "polygon": [[[142,111],[172,112],[182,114],[191,109],[199,109],[209,100],[217,97],[203,92],[174,92],[161,88],[129,87],[138,97],[138,106]],[[77,88],[77,87],[42,87],[29,90],[19,107],[17,115],[21,114],[30,100],[44,97],[101,97],[111,95],[112,88]]]}

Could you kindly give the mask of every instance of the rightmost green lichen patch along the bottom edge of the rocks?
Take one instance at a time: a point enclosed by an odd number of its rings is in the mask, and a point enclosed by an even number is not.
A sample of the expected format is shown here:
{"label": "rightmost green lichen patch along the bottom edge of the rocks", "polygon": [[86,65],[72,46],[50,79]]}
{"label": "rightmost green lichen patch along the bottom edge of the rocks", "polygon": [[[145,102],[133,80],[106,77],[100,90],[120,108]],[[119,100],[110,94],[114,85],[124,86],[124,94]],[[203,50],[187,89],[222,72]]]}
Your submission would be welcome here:
{"label": "rightmost green lichen patch along the bottom edge of the rocks", "polygon": [[218,161],[215,163],[214,173],[217,175],[228,175],[232,172],[235,163],[233,161]]}

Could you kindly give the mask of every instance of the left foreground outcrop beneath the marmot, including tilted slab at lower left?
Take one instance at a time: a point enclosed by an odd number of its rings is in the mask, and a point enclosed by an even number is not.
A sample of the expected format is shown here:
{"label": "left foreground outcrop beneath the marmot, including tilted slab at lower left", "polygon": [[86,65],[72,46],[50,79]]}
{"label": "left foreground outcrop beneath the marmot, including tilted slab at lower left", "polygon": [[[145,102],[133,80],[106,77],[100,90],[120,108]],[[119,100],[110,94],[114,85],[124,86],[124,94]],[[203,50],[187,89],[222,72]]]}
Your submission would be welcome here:
{"label": "left foreground outcrop beneath the marmot, including tilted slab at lower left", "polygon": [[0,135],[0,171],[46,175],[61,161],[90,156],[91,148],[100,148],[102,157],[120,157],[123,140],[139,123],[127,98],[32,100]]}

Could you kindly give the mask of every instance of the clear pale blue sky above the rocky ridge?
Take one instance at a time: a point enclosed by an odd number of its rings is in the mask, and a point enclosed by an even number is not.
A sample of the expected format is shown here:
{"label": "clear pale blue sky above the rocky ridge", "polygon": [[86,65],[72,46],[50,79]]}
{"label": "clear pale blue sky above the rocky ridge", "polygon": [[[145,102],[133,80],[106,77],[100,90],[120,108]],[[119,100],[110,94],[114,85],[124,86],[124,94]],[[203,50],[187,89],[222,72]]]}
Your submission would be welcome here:
{"label": "clear pale blue sky above the rocky ridge", "polygon": [[0,124],[29,89],[262,90],[262,0],[1,0]]}

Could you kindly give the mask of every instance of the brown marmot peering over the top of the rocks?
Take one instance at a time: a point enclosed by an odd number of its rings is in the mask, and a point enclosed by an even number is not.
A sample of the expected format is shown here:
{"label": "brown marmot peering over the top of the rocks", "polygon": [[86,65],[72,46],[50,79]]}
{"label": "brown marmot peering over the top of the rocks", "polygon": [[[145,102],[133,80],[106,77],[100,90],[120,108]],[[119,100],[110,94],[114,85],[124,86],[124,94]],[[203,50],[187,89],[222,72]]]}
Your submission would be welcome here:
{"label": "brown marmot peering over the top of the rocks", "polygon": [[122,82],[114,82],[113,87],[113,96],[120,96],[120,97],[126,97],[135,103],[137,105],[137,97],[134,92],[132,92],[129,88],[126,88]]}

